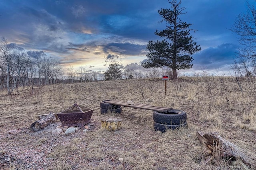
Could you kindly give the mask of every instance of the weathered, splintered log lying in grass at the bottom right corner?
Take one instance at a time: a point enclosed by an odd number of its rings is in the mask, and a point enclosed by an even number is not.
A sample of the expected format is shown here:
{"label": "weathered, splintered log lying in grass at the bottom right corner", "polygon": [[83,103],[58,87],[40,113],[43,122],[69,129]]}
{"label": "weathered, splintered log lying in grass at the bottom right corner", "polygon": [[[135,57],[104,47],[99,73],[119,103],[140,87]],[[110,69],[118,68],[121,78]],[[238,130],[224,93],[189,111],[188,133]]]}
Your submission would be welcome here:
{"label": "weathered, splintered log lying in grass at the bottom right corner", "polygon": [[212,158],[235,157],[241,159],[246,165],[256,167],[256,156],[223,139],[218,133],[197,131],[196,136],[203,144],[206,153]]}

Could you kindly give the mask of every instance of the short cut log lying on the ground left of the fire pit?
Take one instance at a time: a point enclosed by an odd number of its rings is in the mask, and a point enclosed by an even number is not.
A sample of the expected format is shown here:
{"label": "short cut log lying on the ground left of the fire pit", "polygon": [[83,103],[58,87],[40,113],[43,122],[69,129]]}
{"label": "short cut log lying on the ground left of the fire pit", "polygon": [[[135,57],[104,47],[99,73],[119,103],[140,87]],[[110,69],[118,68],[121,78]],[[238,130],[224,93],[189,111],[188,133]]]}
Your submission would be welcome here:
{"label": "short cut log lying on the ground left of the fire pit", "polygon": [[46,117],[43,117],[42,119],[35,121],[30,125],[30,128],[32,131],[39,131],[40,129],[46,127],[47,125],[50,125],[51,123],[54,123],[56,121],[56,116],[50,112]]}

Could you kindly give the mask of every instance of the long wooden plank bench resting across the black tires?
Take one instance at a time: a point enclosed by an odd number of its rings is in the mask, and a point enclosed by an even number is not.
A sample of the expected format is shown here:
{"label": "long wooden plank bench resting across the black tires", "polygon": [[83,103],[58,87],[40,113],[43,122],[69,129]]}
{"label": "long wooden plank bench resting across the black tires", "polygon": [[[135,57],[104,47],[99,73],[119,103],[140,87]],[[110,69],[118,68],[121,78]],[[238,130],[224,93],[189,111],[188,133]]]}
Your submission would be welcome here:
{"label": "long wooden plank bench resting across the black tires", "polygon": [[108,103],[108,104],[120,105],[120,106],[124,106],[124,107],[133,107],[135,109],[154,110],[154,111],[158,111],[158,112],[167,112],[167,111],[172,110],[172,108],[168,108],[168,107],[150,106],[150,105],[145,105],[145,104],[130,105],[127,102],[122,102],[122,101],[118,101],[118,100],[108,100],[108,101],[104,101],[104,102]]}

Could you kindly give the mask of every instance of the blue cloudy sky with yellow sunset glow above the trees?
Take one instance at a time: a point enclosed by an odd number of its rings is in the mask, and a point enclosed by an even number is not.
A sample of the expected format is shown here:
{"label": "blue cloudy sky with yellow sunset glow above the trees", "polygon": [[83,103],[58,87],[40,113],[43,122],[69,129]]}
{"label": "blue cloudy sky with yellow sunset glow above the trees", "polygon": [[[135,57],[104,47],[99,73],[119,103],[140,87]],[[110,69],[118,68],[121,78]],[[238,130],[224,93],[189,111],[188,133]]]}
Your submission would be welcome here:
{"label": "blue cloudy sky with yellow sunset glow above the trees", "polygon": [[[182,0],[181,7],[187,12],[182,20],[194,24],[192,36],[202,47],[190,72],[228,70],[239,47],[229,29],[246,13],[246,1]],[[148,41],[160,40],[154,32],[166,27],[159,23],[161,8],[170,8],[168,0],[1,0],[0,36],[32,57],[46,55],[64,66],[104,71],[116,62],[140,69]]]}

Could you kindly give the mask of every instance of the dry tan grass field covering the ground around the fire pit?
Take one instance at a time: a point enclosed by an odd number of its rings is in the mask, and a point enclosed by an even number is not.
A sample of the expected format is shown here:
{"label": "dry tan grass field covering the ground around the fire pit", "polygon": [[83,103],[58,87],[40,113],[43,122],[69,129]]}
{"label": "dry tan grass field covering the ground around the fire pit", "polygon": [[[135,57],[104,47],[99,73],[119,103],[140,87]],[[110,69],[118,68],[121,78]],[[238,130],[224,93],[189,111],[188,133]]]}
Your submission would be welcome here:
{"label": "dry tan grass field covering the ground around the fire pit", "polygon": [[[0,92],[0,169],[248,170],[234,158],[204,164],[204,149],[196,137],[196,131],[218,132],[256,155],[255,88],[242,88],[234,78],[184,77],[168,80],[166,96],[160,79],[20,88],[12,96]],[[184,110],[188,128],[154,131],[153,111],[131,107],[101,115],[100,102],[109,99]],[[75,101],[94,109],[89,131],[54,136],[51,125],[31,131],[38,115],[63,111]],[[122,119],[122,129],[102,130],[100,120],[106,118]],[[10,161],[4,162],[7,156]]]}

